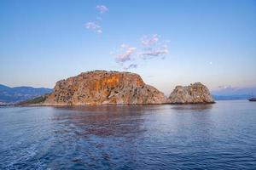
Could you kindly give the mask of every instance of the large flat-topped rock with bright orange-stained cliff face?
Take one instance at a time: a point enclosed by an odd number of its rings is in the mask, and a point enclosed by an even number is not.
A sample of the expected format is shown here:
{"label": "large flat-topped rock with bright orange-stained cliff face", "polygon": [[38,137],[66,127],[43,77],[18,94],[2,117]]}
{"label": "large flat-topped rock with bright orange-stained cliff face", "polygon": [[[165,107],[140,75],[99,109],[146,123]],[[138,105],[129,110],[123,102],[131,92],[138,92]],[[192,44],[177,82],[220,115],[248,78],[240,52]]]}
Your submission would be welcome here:
{"label": "large flat-topped rock with bright orange-stained cliff face", "polygon": [[166,100],[137,74],[89,71],[56,82],[43,105],[163,104]]}

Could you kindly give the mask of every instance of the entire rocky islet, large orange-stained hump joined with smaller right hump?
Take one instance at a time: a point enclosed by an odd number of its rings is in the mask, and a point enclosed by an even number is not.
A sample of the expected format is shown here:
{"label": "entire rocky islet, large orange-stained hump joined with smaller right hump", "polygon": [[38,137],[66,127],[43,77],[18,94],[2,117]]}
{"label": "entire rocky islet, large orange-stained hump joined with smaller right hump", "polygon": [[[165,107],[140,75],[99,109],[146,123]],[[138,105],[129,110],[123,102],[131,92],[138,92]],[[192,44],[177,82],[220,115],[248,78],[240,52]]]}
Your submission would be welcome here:
{"label": "entire rocky islet, large orange-stained hump joined with smaller right hump", "polygon": [[166,97],[131,72],[87,71],[56,82],[53,92],[38,105],[119,104],[209,104],[214,103],[206,86],[196,82],[177,86]]}

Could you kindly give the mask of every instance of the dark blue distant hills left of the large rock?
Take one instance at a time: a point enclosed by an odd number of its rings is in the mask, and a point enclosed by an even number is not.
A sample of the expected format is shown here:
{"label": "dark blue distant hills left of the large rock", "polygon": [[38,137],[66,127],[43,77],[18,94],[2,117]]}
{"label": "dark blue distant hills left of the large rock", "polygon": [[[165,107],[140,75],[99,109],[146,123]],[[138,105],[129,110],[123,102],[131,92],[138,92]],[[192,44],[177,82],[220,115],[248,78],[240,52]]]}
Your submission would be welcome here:
{"label": "dark blue distant hills left of the large rock", "polygon": [[51,93],[50,88],[15,87],[9,88],[0,84],[0,105],[14,104],[27,99],[33,99],[43,94]]}

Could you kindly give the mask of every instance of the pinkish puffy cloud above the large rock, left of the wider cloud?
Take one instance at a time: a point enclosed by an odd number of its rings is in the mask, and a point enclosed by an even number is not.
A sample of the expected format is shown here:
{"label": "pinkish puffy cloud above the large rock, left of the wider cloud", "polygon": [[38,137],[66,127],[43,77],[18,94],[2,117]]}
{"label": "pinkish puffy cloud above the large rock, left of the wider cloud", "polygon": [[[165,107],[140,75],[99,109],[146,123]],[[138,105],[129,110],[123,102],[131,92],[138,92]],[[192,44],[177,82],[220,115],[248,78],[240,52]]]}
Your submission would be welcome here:
{"label": "pinkish puffy cloud above the large rock, left of the wider cloud", "polygon": [[116,61],[118,63],[124,63],[125,61],[131,60],[131,54],[133,54],[136,49],[137,48],[130,47],[127,44],[122,44],[121,45],[121,52],[122,52],[122,54],[118,54],[116,56]]}

